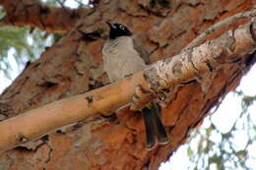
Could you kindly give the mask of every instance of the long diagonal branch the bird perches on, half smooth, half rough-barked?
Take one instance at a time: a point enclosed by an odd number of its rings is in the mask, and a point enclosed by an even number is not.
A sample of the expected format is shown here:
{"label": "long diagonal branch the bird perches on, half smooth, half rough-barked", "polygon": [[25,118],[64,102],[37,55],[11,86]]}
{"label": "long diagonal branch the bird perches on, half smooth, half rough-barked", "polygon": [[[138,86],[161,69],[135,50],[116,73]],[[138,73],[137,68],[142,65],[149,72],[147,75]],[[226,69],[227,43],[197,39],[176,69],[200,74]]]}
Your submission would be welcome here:
{"label": "long diagonal branch the bird perches on, half smooth, half rough-barked", "polygon": [[[0,129],[6,131],[0,131],[0,150],[32,141],[94,114],[110,113],[130,103],[138,85],[160,93],[162,89],[173,89],[201,74],[211,73],[237,58],[243,61],[242,56],[255,50],[255,33],[256,23],[243,25],[196,48],[159,61],[131,78],[38,107],[3,121]],[[152,95],[149,96],[152,99]]]}

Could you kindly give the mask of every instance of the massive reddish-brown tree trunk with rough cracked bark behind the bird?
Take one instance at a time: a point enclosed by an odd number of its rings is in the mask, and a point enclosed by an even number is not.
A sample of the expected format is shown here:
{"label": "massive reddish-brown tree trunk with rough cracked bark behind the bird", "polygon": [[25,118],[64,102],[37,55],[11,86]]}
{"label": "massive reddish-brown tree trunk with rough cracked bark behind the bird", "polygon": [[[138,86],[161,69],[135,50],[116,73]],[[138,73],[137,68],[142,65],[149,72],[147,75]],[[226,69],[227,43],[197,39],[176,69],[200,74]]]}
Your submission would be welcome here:
{"label": "massive reddish-brown tree trunk with rough cracked bark behind the bird", "polygon": [[[151,53],[153,63],[178,54],[205,28],[251,9],[254,1],[112,0],[98,1],[95,9],[69,12],[34,1],[0,0],[0,4],[7,12],[6,20],[12,25],[67,32],[1,94],[0,115],[8,119],[108,84],[101,58],[101,47],[107,35],[104,21],[122,23],[130,28]],[[231,27],[246,22],[243,20]],[[226,29],[215,31],[209,38]],[[248,56],[246,61],[225,64],[211,74],[211,79],[202,77],[200,83],[180,86],[162,111],[170,137],[166,145],[148,151],[141,115],[122,109],[118,112],[119,124],[109,124],[94,116],[36,142],[0,153],[0,170],[157,169],[160,162],[186,141],[190,131],[203,121],[210,109],[219,105],[224,95],[239,84],[254,61],[254,55]],[[207,92],[201,89],[202,84],[209,86]]]}

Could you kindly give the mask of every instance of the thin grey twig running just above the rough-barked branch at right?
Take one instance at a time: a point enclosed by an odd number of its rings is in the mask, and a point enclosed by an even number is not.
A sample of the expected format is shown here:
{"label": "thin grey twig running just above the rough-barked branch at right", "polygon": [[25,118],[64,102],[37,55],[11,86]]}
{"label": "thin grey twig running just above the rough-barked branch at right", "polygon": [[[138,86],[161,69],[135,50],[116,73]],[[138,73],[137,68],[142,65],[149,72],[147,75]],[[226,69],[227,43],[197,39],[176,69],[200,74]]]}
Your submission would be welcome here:
{"label": "thin grey twig running just above the rough-barked branch at right", "polygon": [[252,9],[250,11],[238,13],[234,16],[228,17],[228,18],[224,19],[223,21],[215,24],[214,26],[207,28],[203,33],[201,33],[194,40],[192,40],[192,42],[190,42],[183,50],[186,50],[188,48],[193,48],[193,47],[200,45],[202,42],[205,41],[205,39],[207,38],[207,36],[209,34],[213,33],[215,30],[217,30],[219,28],[224,28],[224,27],[227,27],[227,26],[233,24],[234,22],[237,22],[238,20],[249,19],[249,18],[252,18],[255,16],[256,16],[256,9]]}

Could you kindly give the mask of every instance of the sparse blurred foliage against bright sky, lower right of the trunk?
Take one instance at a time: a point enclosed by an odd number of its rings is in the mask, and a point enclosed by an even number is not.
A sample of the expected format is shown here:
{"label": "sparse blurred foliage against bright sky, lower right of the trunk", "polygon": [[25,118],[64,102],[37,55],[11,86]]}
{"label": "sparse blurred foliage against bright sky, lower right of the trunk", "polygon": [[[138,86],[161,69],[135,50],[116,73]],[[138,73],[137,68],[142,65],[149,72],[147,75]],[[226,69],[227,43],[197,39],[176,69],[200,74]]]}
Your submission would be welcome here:
{"label": "sparse blurred foliage against bright sky, lower right of the trunk", "polygon": [[[251,156],[249,148],[255,144],[256,125],[251,118],[255,113],[250,113],[248,109],[256,100],[256,96],[244,95],[242,91],[235,92],[234,95],[240,97],[242,111],[230,131],[223,133],[210,121],[207,128],[200,128],[191,135],[187,145],[189,169],[252,170],[248,161],[255,162],[256,158]],[[228,114],[228,110],[226,112]],[[243,147],[237,146],[237,133],[247,136],[247,139],[242,139],[246,141],[242,144]]]}

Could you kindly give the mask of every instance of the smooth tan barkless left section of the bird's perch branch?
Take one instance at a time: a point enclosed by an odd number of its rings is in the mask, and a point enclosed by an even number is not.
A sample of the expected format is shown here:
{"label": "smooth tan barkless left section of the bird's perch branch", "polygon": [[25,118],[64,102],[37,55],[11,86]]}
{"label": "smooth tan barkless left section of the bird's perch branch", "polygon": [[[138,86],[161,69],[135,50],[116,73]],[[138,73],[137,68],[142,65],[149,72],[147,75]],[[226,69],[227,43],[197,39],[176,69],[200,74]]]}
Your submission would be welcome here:
{"label": "smooth tan barkless left section of the bird's perch branch", "polygon": [[[37,139],[57,128],[80,122],[94,114],[109,114],[129,103],[135,86],[147,85],[142,73],[117,84],[61,99],[0,122],[0,151]],[[122,91],[122,92],[116,92]]]}

